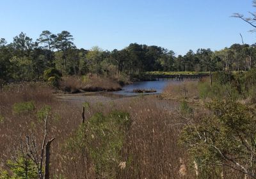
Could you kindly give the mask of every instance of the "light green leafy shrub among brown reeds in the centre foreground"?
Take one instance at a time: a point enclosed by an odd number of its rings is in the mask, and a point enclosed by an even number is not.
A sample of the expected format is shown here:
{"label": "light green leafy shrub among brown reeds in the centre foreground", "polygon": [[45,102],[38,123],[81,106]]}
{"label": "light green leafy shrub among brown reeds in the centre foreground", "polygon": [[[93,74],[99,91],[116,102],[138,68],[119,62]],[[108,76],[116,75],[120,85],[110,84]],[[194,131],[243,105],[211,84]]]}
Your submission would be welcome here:
{"label": "light green leafy shrub among brown reeds in the centre foreground", "polygon": [[[67,144],[69,150],[86,148],[95,165],[96,173],[106,178],[116,178],[115,167],[121,161],[120,151],[126,132],[131,126],[128,113],[112,111],[109,114],[95,113],[82,124]],[[100,177],[99,177],[100,178]]]}

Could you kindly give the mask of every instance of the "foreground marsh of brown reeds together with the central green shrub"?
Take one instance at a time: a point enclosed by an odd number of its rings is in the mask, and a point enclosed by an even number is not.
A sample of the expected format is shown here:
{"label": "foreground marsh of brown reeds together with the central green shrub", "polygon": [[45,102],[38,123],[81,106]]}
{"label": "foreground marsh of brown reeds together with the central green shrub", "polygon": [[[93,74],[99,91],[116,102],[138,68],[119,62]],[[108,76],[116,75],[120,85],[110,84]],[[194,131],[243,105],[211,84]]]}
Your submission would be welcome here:
{"label": "foreground marsh of brown reeds together with the central green shrub", "polygon": [[[13,113],[15,103],[31,101],[33,111]],[[179,157],[186,159],[177,143],[179,117],[164,110],[154,97],[79,105],[58,100],[42,84],[12,84],[0,93],[0,111],[4,118],[0,123],[2,178],[15,175],[8,160],[19,158],[20,142],[26,149],[26,136],[31,140],[33,136],[40,153],[46,114],[47,139],[55,138],[50,150],[51,178],[97,178],[100,171],[102,178],[179,177]]]}

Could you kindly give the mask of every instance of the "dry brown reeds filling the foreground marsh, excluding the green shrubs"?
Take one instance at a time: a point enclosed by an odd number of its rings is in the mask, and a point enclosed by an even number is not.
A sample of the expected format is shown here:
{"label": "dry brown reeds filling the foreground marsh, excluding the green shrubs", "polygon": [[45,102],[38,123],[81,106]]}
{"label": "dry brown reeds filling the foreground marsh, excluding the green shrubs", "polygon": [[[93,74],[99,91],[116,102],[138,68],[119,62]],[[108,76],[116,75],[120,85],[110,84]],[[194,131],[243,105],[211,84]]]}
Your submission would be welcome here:
{"label": "dry brown reeds filling the foreground marsh, excluding the green shrubs", "polygon": [[[35,111],[20,115],[12,113],[15,102],[31,100],[35,101]],[[4,116],[3,123],[0,123],[0,164],[8,169],[6,160],[15,154],[25,136],[33,134],[37,143],[41,143],[44,128],[35,114],[44,105],[52,107],[48,137],[56,138],[51,148],[51,178],[60,175],[65,178],[95,178],[95,168],[89,155],[79,150],[67,150],[66,146],[67,140],[81,124],[82,107],[58,101],[52,95],[52,89],[43,84],[12,86],[0,93],[0,114]],[[90,106],[86,118],[113,109],[127,111],[131,115],[131,130],[120,152],[122,160],[116,161],[113,169],[117,178],[180,178],[181,174],[182,177],[196,178],[195,169],[188,167],[186,150],[178,144],[184,125],[184,120],[175,112],[178,103],[148,96]],[[195,118],[198,116],[202,114],[196,114]],[[212,175],[211,178],[220,176]]]}

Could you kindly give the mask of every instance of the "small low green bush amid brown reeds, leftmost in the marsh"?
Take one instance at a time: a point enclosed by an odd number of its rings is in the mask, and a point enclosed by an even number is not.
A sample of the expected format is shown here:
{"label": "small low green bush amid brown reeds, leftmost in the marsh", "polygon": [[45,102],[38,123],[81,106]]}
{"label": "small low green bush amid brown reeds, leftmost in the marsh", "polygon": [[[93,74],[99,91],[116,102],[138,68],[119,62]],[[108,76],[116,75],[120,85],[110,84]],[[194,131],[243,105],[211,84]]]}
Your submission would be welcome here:
{"label": "small low green bush amid brown reeds, leftmost in the marsh", "polygon": [[29,113],[35,110],[35,102],[17,102],[13,104],[12,111],[14,114]]}

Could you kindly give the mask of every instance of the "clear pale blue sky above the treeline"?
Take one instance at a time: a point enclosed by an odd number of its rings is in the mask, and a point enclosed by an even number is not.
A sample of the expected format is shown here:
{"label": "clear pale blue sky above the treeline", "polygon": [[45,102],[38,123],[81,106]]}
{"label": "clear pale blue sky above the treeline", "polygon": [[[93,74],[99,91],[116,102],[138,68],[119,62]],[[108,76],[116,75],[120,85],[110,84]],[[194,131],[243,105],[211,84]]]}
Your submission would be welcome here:
{"label": "clear pale blue sky above the treeline", "polygon": [[230,17],[248,15],[251,0],[0,0],[0,38],[21,31],[36,40],[43,30],[70,31],[78,48],[123,49],[129,43],[158,45],[176,54],[255,43],[253,29]]}

